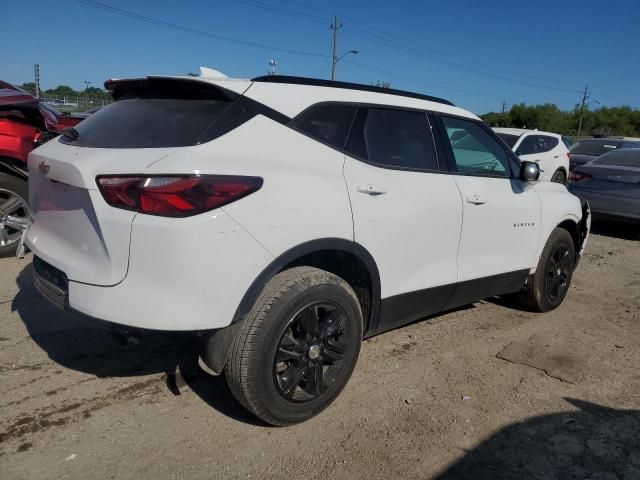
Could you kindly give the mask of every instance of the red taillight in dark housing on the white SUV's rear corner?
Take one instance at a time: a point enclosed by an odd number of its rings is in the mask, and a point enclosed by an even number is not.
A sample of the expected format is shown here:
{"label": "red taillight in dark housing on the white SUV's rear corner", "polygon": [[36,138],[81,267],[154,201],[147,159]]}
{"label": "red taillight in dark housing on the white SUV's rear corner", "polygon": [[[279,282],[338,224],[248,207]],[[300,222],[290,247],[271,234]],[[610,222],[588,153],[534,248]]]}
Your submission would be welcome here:
{"label": "red taillight in dark housing on the white SUV's rear corner", "polygon": [[222,207],[262,187],[259,177],[222,175],[100,175],[112,207],[164,217],[188,217]]}

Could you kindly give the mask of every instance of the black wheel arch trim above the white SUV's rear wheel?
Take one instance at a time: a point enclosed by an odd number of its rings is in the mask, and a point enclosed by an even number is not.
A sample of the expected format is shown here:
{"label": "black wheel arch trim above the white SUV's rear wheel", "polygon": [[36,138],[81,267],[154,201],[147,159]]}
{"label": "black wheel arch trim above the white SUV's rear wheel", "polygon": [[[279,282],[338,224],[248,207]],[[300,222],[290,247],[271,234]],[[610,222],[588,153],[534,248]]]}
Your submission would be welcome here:
{"label": "black wheel arch trim above the white SUV's rear wheel", "polygon": [[352,254],[364,264],[367,273],[369,274],[369,281],[371,284],[371,311],[369,313],[369,318],[367,319],[367,325],[369,330],[374,327],[378,322],[378,316],[380,314],[380,273],[378,271],[378,265],[366,248],[353,240],[345,240],[342,238],[322,238],[311,240],[290,248],[279,255],[254,279],[253,283],[242,297],[231,324],[235,324],[244,318],[249,310],[251,310],[251,307],[267,282],[278,272],[282,271],[284,267],[305,255],[324,250],[335,250]]}

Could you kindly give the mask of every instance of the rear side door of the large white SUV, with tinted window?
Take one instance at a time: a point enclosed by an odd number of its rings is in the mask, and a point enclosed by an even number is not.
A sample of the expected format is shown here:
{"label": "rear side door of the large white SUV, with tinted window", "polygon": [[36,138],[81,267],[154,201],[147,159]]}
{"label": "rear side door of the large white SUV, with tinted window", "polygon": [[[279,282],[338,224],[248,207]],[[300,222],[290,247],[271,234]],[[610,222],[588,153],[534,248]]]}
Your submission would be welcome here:
{"label": "rear side door of the large white SUV, with tinted window", "polygon": [[379,329],[441,311],[457,281],[462,203],[427,115],[360,108],[346,150],[355,241],[380,272]]}

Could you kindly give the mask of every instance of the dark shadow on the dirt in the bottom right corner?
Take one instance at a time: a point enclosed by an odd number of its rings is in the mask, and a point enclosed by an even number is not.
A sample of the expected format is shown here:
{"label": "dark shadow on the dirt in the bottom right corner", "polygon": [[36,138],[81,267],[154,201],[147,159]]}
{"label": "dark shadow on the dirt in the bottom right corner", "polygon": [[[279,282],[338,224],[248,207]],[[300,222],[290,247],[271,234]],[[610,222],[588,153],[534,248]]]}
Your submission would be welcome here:
{"label": "dark shadow on the dirt in the bottom right corner", "polygon": [[578,410],[509,425],[436,478],[640,478],[640,410],[565,400]]}

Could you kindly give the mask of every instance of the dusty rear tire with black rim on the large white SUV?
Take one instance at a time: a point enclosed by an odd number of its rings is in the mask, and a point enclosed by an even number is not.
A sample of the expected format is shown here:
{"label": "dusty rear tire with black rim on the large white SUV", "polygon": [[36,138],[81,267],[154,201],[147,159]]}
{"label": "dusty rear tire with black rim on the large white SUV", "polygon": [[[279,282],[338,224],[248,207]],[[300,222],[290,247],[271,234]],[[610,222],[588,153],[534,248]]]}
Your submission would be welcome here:
{"label": "dusty rear tire with black rim on the large white SUV", "polygon": [[269,281],[243,320],[225,377],[258,418],[278,426],[299,423],[342,391],[361,341],[362,312],[349,284],[324,270],[295,267]]}

